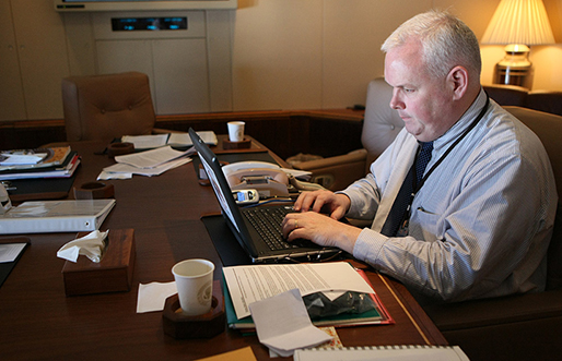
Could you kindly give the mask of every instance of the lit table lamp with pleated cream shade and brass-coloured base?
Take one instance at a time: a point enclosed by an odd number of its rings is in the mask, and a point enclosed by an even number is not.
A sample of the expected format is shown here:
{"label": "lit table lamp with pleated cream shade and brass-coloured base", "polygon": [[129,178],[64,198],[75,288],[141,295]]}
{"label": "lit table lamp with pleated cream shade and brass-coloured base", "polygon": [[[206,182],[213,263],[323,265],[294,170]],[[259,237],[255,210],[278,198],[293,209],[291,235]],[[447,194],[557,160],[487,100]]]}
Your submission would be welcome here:
{"label": "lit table lamp with pleated cream shade and brass-coloured base", "polygon": [[495,84],[530,89],[529,46],[555,43],[542,0],[502,0],[481,43],[506,45],[505,57],[495,65]]}

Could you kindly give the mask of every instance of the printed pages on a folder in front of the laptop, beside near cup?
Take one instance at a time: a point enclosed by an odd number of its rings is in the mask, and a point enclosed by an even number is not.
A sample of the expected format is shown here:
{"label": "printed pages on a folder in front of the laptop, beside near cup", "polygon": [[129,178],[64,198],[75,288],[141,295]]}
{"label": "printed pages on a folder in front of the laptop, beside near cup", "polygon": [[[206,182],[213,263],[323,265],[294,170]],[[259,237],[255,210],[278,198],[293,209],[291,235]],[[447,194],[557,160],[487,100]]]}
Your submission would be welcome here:
{"label": "printed pages on a folder in front of the laptop, beside near cup", "polygon": [[298,288],[306,296],[323,292],[335,300],[347,291],[368,293],[375,309],[361,314],[341,314],[314,320],[315,326],[390,324],[393,317],[362,272],[347,262],[288,265],[254,265],[223,268],[224,299],[229,326],[251,329],[249,304]]}

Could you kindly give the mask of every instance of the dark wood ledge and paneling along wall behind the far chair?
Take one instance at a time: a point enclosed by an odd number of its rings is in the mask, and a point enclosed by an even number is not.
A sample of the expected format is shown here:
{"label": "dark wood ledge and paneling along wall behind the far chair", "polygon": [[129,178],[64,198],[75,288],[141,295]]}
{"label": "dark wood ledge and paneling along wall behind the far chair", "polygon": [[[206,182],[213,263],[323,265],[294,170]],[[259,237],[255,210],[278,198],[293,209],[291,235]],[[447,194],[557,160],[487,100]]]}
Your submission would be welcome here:
{"label": "dark wood ledge and paneling along wall behind the far chair", "polygon": [[[361,148],[363,112],[348,109],[160,116],[156,128],[187,132],[191,127],[226,134],[226,123],[232,120],[245,121],[246,133],[283,159],[298,153],[328,157]],[[3,149],[65,141],[63,120],[0,123]]]}

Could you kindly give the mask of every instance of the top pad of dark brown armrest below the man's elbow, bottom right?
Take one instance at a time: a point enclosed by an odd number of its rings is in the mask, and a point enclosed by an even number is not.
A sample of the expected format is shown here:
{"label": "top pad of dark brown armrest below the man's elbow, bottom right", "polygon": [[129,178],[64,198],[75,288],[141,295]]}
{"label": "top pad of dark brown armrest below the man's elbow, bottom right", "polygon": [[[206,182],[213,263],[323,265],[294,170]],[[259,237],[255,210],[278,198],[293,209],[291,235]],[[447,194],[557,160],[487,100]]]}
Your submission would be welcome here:
{"label": "top pad of dark brown armrest below the man's elbow, bottom right", "polygon": [[562,317],[562,290],[423,308],[441,332]]}

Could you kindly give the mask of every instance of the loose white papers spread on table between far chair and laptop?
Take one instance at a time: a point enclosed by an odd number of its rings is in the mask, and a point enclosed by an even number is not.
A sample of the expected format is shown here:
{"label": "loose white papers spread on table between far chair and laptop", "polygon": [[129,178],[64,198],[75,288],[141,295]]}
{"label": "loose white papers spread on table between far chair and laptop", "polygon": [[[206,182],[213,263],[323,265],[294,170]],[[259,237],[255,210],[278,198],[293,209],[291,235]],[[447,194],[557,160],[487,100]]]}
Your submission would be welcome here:
{"label": "loose white papers spread on table between far chair and laptop", "polygon": [[188,156],[194,153],[192,147],[186,152],[179,152],[172,149],[168,145],[152,151],[117,156],[115,157],[117,164],[104,168],[97,179],[126,179],[131,178],[132,175],[160,176],[166,170],[191,161]]}

